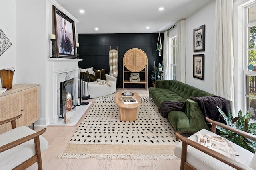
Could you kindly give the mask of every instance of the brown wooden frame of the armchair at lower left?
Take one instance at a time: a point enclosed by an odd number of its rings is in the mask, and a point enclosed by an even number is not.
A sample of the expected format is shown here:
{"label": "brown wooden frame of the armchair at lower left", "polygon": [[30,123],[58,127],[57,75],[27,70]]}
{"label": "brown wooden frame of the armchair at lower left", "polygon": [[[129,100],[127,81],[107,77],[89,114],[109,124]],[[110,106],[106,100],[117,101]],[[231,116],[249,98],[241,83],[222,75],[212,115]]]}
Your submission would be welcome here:
{"label": "brown wooden frame of the armchair at lower left", "polygon": [[[10,122],[12,125],[12,129],[16,128],[16,119],[20,118],[22,115],[18,115],[16,117],[4,120],[4,121],[0,121],[0,125],[5,124]],[[28,135],[26,137],[23,137],[21,139],[18,139],[16,141],[13,141],[11,143],[8,143],[6,145],[3,145],[0,147],[0,153],[4,152],[8,149],[11,149],[13,147],[16,147],[22,143],[25,143],[26,141],[29,141],[31,139],[34,139],[34,144],[35,144],[35,151],[36,151],[36,155],[32,156],[31,158],[29,158],[28,160],[26,160],[25,162],[23,162],[22,164],[16,166],[14,168],[14,170],[20,170],[20,169],[26,169],[29,166],[31,166],[32,164],[36,163],[38,164],[38,170],[42,170],[42,158],[41,158],[41,150],[40,150],[40,141],[39,141],[39,136],[42,135],[44,132],[46,131],[46,128],[42,129],[41,131],[38,131],[36,133],[33,133],[31,135]]]}

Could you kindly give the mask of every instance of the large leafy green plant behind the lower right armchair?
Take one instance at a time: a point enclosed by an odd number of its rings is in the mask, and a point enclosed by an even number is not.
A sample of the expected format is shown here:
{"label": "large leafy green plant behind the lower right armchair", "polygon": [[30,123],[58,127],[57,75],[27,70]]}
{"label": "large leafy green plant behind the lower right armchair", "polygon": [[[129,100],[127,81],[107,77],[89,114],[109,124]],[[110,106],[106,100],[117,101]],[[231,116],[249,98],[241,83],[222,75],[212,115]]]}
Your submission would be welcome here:
{"label": "large leafy green plant behind the lower right armchair", "polygon": [[[233,118],[231,111],[229,111],[228,113],[229,118],[228,118],[226,114],[220,109],[220,107],[217,106],[217,108],[228,126],[256,135],[256,122],[249,123],[250,116],[252,113],[247,111],[246,114],[243,116],[242,111],[240,110],[238,112],[238,117]],[[221,135],[222,137],[225,137],[229,141],[232,141],[233,143],[236,143],[237,145],[243,147],[244,149],[247,149],[250,152],[255,153],[254,149],[256,148],[256,141],[250,138],[244,137],[242,135],[238,135],[237,133],[234,133],[230,130],[224,129],[219,126],[217,126],[216,128],[222,134]]]}

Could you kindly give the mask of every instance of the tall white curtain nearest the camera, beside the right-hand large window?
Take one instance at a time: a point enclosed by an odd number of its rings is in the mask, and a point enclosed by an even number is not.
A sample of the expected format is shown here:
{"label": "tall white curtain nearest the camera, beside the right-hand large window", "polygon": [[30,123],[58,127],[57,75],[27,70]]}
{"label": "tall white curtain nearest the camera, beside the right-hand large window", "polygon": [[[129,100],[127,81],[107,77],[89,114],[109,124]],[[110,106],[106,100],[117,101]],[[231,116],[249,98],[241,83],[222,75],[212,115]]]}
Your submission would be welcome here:
{"label": "tall white curtain nearest the camera, beside the right-hand large window", "polygon": [[214,94],[234,100],[232,0],[216,0],[213,53]]}

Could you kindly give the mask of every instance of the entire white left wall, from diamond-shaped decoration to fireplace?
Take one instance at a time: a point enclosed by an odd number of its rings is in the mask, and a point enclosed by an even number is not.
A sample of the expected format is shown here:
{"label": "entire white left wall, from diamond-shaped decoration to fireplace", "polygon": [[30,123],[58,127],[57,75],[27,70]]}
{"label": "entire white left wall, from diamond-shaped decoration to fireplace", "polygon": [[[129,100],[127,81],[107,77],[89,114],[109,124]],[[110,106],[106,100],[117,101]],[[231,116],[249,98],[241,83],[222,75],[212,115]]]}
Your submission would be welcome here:
{"label": "entire white left wall, from diamond-shaped decoration to fireplace", "polygon": [[46,58],[52,44],[52,4],[78,23],[54,0],[0,0],[0,28],[12,45],[0,56],[0,68],[14,67],[13,84],[40,85],[40,119],[36,125],[48,125],[46,112]]}

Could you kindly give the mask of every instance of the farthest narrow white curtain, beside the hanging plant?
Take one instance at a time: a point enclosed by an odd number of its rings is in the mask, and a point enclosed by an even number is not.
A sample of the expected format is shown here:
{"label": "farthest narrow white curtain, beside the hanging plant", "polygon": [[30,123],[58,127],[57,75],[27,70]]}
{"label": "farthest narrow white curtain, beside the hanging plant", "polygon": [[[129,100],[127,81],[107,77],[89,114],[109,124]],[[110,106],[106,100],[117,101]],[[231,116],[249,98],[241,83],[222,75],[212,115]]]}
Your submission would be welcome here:
{"label": "farthest narrow white curtain, beside the hanging plant", "polygon": [[164,32],[164,48],[163,48],[163,65],[164,65],[164,80],[169,80],[169,74],[171,70],[169,67],[169,57],[168,57],[168,33]]}

